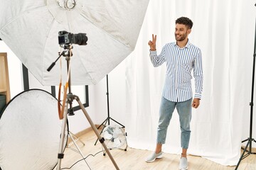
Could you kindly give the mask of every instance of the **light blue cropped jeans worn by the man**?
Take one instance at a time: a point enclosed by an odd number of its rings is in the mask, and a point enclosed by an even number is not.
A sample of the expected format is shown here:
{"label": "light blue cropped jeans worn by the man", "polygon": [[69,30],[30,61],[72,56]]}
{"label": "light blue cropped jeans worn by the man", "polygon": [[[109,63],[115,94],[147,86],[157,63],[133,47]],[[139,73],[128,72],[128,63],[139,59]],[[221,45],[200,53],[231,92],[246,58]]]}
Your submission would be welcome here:
{"label": "light blue cropped jeans worn by the man", "polygon": [[167,128],[169,126],[171,116],[176,108],[179,115],[181,125],[181,147],[188,149],[190,139],[190,122],[192,112],[192,98],[188,101],[173,102],[168,101],[166,98],[161,98],[160,115],[159,115],[159,126],[157,128],[157,140],[159,144],[164,144],[166,140]]}

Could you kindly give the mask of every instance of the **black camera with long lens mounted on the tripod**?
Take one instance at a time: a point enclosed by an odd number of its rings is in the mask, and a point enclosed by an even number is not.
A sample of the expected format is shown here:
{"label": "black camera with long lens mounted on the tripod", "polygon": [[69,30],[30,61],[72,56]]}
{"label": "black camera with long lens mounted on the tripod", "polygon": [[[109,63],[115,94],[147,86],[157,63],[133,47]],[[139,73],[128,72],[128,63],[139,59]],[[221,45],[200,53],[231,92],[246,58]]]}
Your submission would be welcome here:
{"label": "black camera with long lens mounted on the tripod", "polygon": [[70,45],[70,44],[77,44],[77,45],[87,45],[87,36],[86,33],[68,33],[65,30],[61,30],[58,33],[58,41],[59,45]]}

